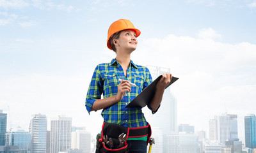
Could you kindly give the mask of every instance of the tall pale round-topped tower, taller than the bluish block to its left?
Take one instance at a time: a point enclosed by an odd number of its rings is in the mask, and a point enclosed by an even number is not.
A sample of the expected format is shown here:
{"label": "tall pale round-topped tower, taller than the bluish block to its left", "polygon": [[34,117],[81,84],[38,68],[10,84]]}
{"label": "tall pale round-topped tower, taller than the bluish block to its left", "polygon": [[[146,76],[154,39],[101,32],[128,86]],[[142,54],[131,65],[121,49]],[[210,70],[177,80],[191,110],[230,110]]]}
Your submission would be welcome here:
{"label": "tall pale round-topped tower, taller than the bluish block to its left", "polygon": [[32,115],[29,132],[31,133],[31,153],[45,153],[47,140],[47,117],[40,113]]}

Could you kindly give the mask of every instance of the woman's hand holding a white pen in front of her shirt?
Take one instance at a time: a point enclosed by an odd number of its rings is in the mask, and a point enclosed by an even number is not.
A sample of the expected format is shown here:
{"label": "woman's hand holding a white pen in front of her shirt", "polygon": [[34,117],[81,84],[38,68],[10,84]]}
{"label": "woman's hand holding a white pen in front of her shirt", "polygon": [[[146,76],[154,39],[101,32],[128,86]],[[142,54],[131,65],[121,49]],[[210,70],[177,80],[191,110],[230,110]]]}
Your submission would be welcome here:
{"label": "woman's hand holding a white pen in front of her shirt", "polygon": [[129,84],[129,80],[122,80],[118,85],[118,91],[116,94],[116,100],[121,101],[125,96],[126,92],[131,92],[131,85]]}

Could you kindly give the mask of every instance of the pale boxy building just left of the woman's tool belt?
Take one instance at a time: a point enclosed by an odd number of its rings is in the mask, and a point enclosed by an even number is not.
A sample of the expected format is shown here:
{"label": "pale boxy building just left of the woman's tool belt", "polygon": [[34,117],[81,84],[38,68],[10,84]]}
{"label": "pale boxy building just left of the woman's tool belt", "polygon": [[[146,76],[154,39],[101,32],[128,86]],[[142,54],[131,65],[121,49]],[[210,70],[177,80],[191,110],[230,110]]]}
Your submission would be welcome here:
{"label": "pale boxy building just left of the woman's tool belt", "polygon": [[79,129],[72,132],[71,148],[83,150],[83,153],[90,153],[91,133]]}

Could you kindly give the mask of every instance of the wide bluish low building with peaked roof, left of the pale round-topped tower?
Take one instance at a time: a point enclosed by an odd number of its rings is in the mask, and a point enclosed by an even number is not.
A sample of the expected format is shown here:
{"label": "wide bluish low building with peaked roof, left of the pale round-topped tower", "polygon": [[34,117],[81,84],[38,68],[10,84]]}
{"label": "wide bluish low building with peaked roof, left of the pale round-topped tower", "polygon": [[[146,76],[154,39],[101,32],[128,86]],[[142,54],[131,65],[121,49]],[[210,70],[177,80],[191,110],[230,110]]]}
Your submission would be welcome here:
{"label": "wide bluish low building with peaked roof, left of the pale round-topped tower", "polygon": [[5,134],[5,145],[17,145],[24,152],[30,151],[31,135],[29,132],[17,127],[13,131],[8,131]]}

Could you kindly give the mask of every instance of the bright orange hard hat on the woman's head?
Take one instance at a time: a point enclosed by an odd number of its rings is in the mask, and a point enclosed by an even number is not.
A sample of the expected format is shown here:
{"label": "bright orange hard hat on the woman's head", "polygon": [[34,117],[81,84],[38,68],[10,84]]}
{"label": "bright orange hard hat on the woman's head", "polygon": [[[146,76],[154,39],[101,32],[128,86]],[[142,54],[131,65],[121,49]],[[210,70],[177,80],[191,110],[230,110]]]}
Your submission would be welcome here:
{"label": "bright orange hard hat on the woman's head", "polygon": [[118,31],[122,31],[125,29],[131,29],[136,33],[136,37],[140,36],[140,30],[135,29],[134,25],[132,24],[131,21],[126,20],[126,19],[120,19],[117,20],[115,22],[113,22],[113,24],[110,25],[109,29],[108,29],[108,40],[107,40],[107,46],[109,49],[113,50],[111,47],[111,43],[109,41],[109,38],[117,33]]}

